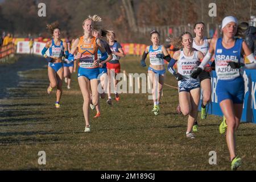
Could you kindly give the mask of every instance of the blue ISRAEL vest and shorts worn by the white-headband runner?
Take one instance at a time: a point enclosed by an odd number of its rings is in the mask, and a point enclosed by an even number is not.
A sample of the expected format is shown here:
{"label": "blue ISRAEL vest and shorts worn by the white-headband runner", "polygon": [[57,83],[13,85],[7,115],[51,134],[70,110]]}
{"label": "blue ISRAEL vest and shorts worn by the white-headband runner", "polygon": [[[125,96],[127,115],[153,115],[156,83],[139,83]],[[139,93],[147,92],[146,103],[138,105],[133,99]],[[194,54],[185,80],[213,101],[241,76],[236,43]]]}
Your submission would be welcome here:
{"label": "blue ISRAEL vest and shorts worn by the white-headband runner", "polygon": [[[228,66],[230,61],[241,63],[242,39],[236,39],[234,47],[226,49],[222,46],[222,38],[219,38],[215,49],[215,70],[218,77],[216,94],[218,102],[230,99],[234,104],[242,104],[245,96],[243,83],[243,69],[233,69]],[[242,59],[243,60],[243,59]],[[234,85],[240,85],[235,86]]]}

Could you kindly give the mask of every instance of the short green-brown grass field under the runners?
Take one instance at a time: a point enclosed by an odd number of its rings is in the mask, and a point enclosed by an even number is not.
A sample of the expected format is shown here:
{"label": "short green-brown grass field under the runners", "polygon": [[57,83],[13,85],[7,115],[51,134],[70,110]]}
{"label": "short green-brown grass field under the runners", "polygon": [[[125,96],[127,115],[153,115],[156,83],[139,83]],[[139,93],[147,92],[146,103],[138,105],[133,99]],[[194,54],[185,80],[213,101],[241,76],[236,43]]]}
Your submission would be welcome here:
{"label": "short green-brown grass field under the runners", "polygon": [[[148,63],[147,63],[148,64]],[[146,73],[139,57],[121,60],[127,73]],[[77,72],[76,72],[77,74]],[[164,86],[160,115],[151,113],[148,94],[121,94],[113,105],[100,100],[101,118],[90,114],[91,133],[84,133],[82,96],[73,74],[71,90],[64,84],[61,108],[55,90],[48,95],[47,69],[20,72],[18,88],[0,100],[0,169],[11,170],[230,170],[221,117],[199,117],[196,139],[185,137],[187,117],[176,114],[177,90]],[[167,72],[166,83],[177,86]],[[240,170],[256,169],[256,125],[242,123],[237,132]],[[46,152],[46,165],[38,152]],[[209,152],[217,152],[210,165]]]}

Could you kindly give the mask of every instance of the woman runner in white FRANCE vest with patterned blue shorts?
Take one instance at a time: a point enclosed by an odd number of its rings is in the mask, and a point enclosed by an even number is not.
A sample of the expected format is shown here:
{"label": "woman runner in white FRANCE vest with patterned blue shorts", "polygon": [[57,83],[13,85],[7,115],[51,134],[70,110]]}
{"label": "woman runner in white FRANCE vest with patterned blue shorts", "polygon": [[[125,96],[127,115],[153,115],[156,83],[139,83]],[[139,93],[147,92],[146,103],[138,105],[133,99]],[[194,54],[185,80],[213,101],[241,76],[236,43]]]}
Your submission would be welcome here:
{"label": "woman runner in white FRANCE vest with patterned blue shorts", "polygon": [[[186,136],[195,138],[192,127],[197,119],[197,108],[200,101],[200,81],[199,78],[191,78],[191,73],[197,68],[200,59],[203,59],[204,55],[192,47],[193,38],[191,33],[184,32],[179,40],[183,48],[174,53],[172,60],[168,64],[168,71],[179,81],[180,109],[184,115],[188,115]],[[173,68],[176,62],[177,72]]]}

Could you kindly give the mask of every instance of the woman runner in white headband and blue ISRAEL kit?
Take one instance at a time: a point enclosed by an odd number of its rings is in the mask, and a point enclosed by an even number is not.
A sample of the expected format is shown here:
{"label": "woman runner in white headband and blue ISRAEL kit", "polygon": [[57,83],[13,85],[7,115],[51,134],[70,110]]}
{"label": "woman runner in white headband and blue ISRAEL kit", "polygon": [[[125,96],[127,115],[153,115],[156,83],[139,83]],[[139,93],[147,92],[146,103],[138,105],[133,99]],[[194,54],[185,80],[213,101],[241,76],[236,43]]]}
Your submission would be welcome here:
{"label": "woman runner in white headband and blue ISRAEL kit", "polygon": [[[212,39],[207,55],[199,68],[191,75],[196,78],[215,53],[215,69],[218,78],[216,94],[222,113],[226,118],[220,125],[220,133],[223,134],[226,131],[232,170],[241,166],[241,158],[236,155],[235,133],[240,125],[245,94],[242,71],[243,68],[256,68],[254,55],[246,42],[235,38],[238,34],[237,24],[237,19],[234,16],[226,16],[222,20],[222,38]],[[242,55],[245,55],[251,64],[244,64],[241,59]]]}

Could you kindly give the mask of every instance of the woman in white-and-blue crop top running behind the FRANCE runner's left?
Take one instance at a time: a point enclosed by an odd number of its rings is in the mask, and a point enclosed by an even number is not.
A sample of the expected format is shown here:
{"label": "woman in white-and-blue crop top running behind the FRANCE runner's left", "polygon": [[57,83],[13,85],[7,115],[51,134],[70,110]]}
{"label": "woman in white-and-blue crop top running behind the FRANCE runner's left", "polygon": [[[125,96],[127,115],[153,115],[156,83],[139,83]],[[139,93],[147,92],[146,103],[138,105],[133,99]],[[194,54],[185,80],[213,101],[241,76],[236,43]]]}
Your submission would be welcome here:
{"label": "woman in white-and-blue crop top running behind the FRANCE runner's left", "polygon": [[152,112],[154,112],[155,115],[158,115],[160,110],[159,102],[163,92],[164,73],[166,73],[164,60],[170,62],[171,56],[167,52],[166,48],[160,45],[160,34],[158,31],[151,31],[150,36],[152,45],[147,46],[146,50],[144,51],[141,65],[142,67],[146,67],[145,59],[147,54],[149,54],[150,66],[148,67],[148,75],[152,81],[152,98],[154,101]]}

